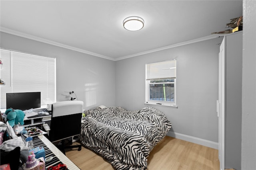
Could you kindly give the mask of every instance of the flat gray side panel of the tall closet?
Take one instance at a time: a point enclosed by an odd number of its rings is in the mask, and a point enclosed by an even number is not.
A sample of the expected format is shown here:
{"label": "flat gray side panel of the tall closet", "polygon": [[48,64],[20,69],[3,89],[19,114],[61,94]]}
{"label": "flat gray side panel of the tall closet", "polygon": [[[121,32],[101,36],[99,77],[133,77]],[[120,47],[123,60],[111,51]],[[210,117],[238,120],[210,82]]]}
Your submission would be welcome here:
{"label": "flat gray side panel of the tall closet", "polygon": [[241,169],[242,32],[226,36],[226,169]]}

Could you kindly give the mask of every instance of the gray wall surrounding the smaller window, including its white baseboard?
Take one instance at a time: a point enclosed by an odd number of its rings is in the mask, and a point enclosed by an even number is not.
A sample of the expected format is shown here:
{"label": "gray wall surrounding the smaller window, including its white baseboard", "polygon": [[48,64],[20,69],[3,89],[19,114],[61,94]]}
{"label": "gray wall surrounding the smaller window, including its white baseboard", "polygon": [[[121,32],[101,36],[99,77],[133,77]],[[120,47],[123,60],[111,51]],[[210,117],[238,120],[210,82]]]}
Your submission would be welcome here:
{"label": "gray wall surrounding the smaller window, including its white baseboard", "polygon": [[172,123],[168,135],[218,148],[218,53],[222,37],[116,61],[116,106],[144,107],[145,64],[177,60],[178,109],[152,106]]}

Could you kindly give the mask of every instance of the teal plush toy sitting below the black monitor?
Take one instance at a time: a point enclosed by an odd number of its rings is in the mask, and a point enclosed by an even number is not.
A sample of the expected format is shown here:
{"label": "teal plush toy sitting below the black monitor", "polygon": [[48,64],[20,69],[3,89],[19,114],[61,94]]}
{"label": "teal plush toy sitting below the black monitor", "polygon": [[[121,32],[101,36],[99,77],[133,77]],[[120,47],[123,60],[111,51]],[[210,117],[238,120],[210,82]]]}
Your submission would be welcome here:
{"label": "teal plush toy sitting below the black monitor", "polygon": [[20,123],[20,125],[24,125],[24,117],[25,117],[25,113],[22,110],[19,109],[7,109],[5,111],[5,114],[7,115],[7,121],[9,122],[11,127],[14,127],[14,125],[18,125]]}

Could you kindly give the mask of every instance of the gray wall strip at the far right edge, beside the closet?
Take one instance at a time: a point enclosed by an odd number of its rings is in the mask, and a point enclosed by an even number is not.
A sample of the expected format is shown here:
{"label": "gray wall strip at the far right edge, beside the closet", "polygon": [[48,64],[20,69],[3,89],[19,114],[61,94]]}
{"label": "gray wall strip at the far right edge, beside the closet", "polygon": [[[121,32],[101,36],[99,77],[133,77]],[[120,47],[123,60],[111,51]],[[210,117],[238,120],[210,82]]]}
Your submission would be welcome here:
{"label": "gray wall strip at the far right edge, beside the closet", "polygon": [[256,1],[243,0],[242,170],[256,167]]}

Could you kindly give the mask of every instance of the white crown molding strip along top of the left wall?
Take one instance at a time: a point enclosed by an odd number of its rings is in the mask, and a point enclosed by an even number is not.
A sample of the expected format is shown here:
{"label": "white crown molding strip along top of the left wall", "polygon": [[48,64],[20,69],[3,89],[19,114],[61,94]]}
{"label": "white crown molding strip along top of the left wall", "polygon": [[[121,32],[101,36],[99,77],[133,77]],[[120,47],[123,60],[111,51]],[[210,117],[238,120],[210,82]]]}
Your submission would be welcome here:
{"label": "white crown molding strip along top of the left wall", "polygon": [[80,53],[85,53],[85,54],[88,54],[88,55],[93,55],[93,56],[96,56],[96,57],[101,57],[101,58],[104,58],[104,59],[115,61],[115,59],[113,59],[111,57],[107,57],[107,56],[100,55],[100,54],[97,54],[97,53],[92,53],[90,51],[86,51],[86,50],[83,50],[83,49],[79,49],[79,48],[72,47],[72,46],[69,46],[69,45],[65,45],[65,44],[62,44],[62,43],[58,43],[58,42],[55,42],[55,41],[50,41],[48,39],[36,37],[34,35],[29,35],[29,34],[26,34],[26,33],[15,31],[13,29],[8,29],[6,27],[0,27],[0,31],[4,32],[4,33],[16,35],[16,36],[19,36],[19,37],[23,37],[23,38],[27,38],[27,39],[32,39],[32,40],[39,41],[39,42],[42,42],[42,43],[47,43],[47,44],[50,44],[50,45],[55,45],[55,46],[62,47],[62,48],[65,48],[65,49],[70,49],[70,50],[73,50],[73,51],[78,51]]}

